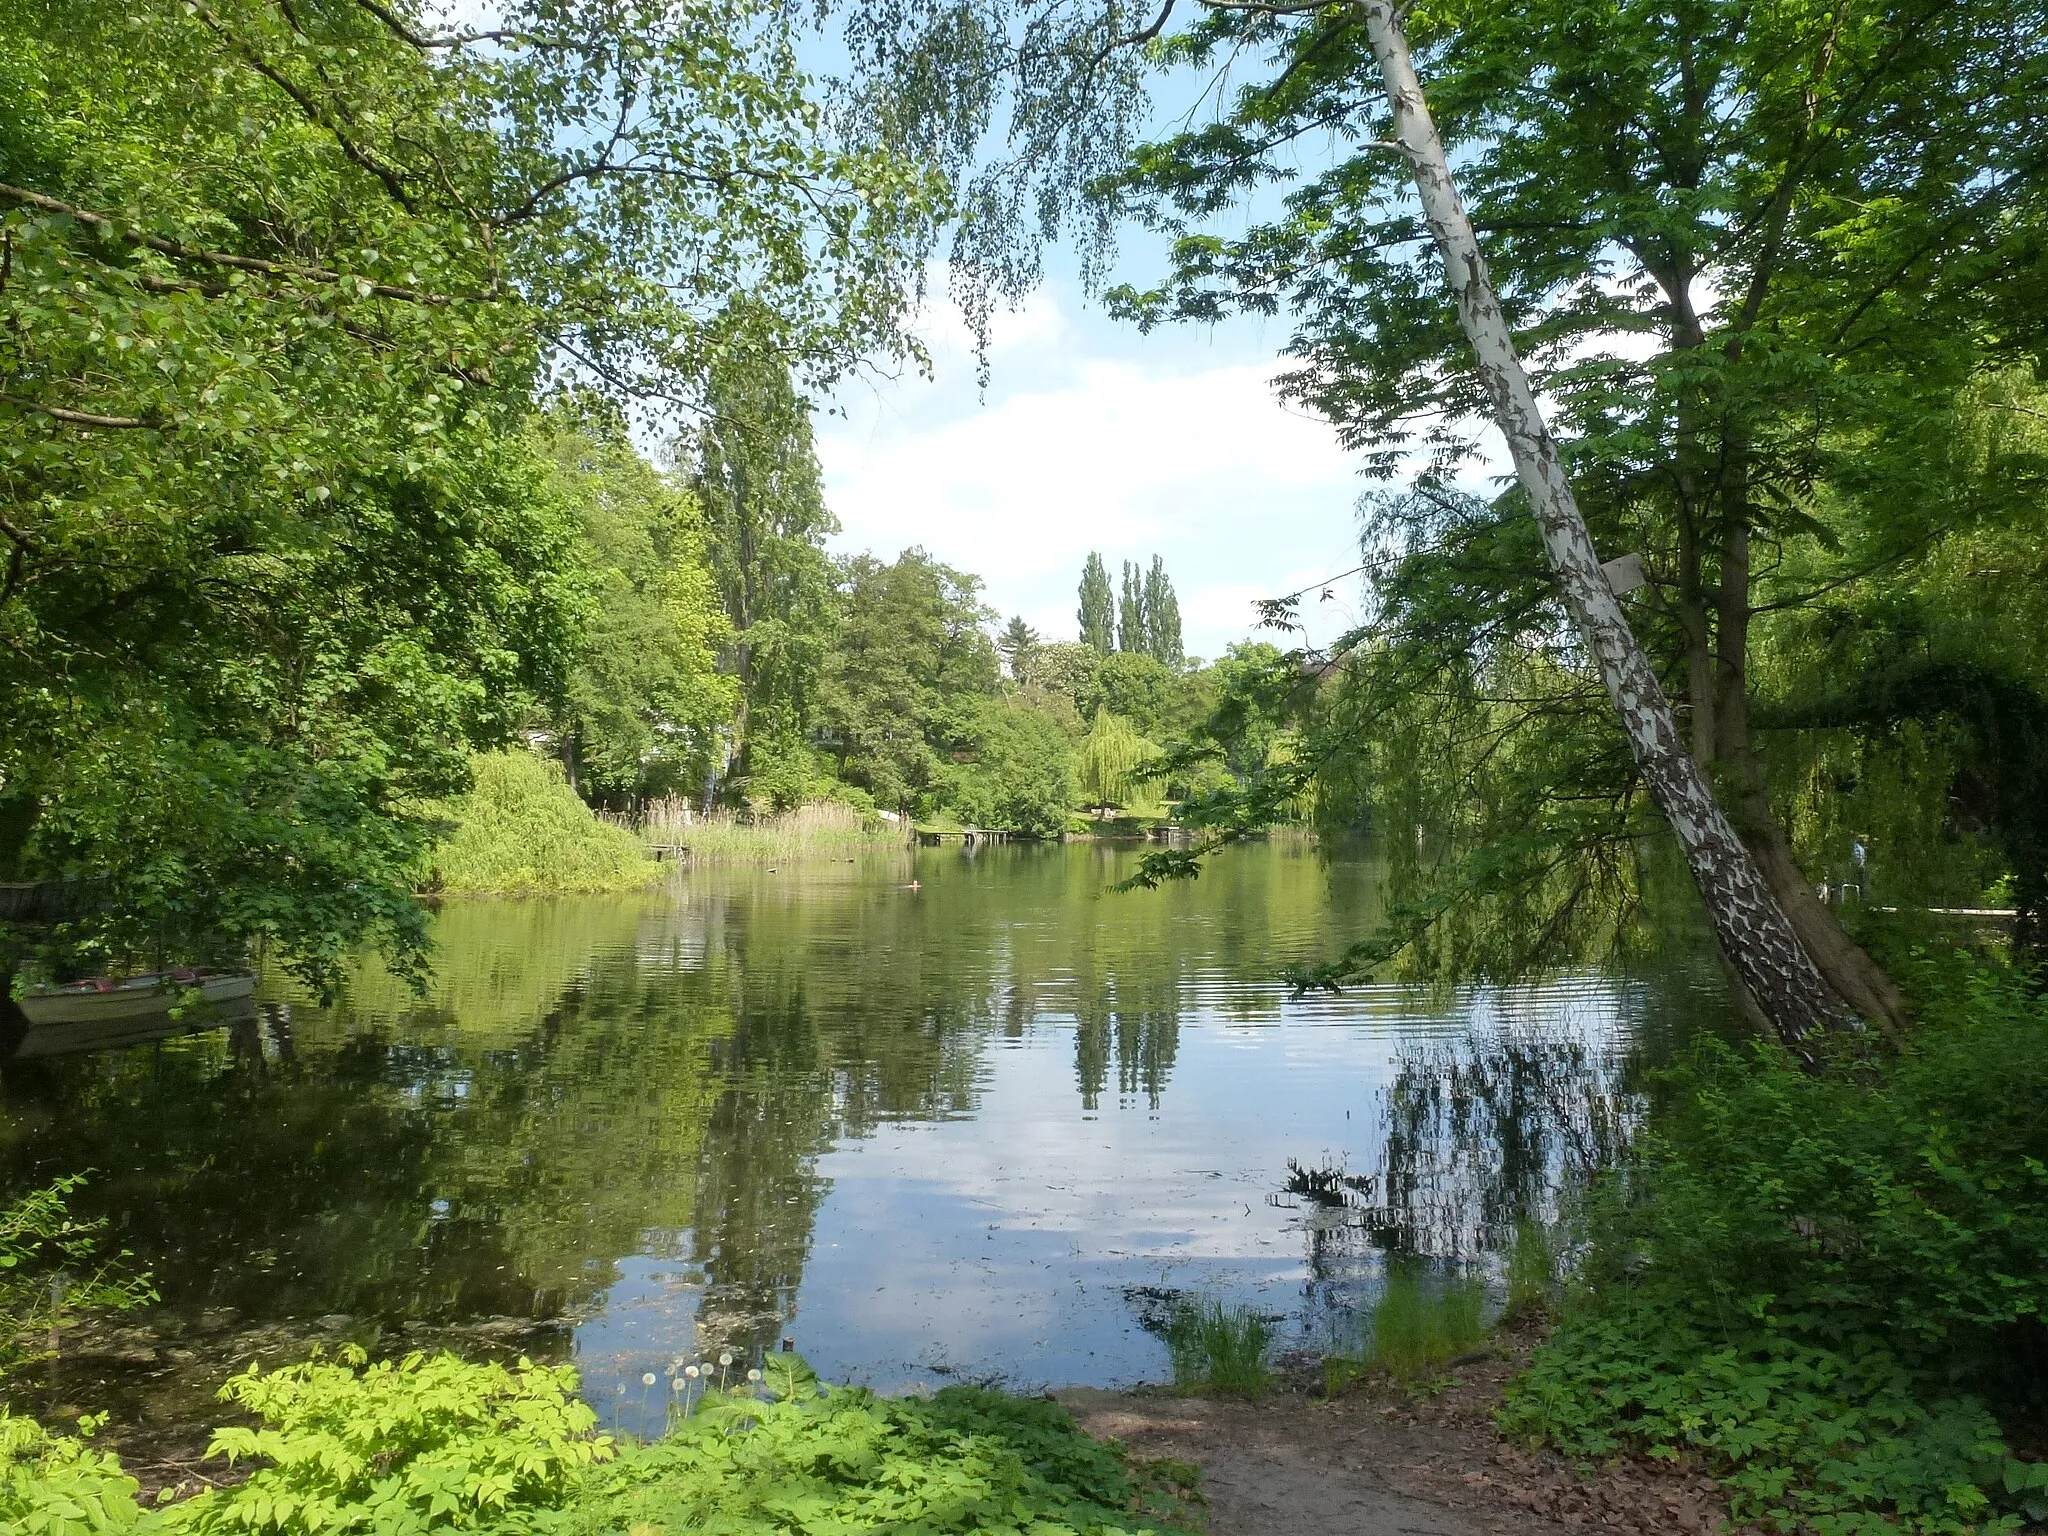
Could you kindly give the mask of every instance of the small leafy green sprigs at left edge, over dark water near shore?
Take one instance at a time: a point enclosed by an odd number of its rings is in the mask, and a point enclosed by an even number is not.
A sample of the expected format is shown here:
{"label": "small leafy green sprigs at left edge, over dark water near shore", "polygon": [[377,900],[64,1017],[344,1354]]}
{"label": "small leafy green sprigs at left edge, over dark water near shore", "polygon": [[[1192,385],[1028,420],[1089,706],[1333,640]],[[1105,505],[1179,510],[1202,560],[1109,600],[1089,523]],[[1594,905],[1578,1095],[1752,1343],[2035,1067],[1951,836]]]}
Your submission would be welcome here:
{"label": "small leafy green sprigs at left edge, over dark water near shore", "polygon": [[127,1253],[98,1257],[106,1223],[72,1217],[84,1182],[74,1174],[0,1206],[0,1378],[41,1360],[68,1323],[156,1300],[147,1276],[123,1274]]}

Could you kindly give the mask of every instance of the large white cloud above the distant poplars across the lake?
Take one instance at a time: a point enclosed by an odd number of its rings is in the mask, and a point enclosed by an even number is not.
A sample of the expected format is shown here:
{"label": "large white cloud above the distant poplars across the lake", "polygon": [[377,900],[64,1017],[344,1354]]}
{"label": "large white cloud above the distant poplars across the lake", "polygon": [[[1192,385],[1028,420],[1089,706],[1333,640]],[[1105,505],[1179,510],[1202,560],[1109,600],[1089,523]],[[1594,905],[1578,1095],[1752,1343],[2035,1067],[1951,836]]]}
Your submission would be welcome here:
{"label": "large white cloud above the distant poplars across the lake", "polygon": [[1356,463],[1280,406],[1266,344],[1157,344],[1038,297],[997,315],[983,403],[956,315],[928,336],[936,381],[846,389],[819,422],[842,547],[924,545],[1061,639],[1090,551],[1159,553],[1202,655],[1251,633],[1253,598],[1356,563]]}

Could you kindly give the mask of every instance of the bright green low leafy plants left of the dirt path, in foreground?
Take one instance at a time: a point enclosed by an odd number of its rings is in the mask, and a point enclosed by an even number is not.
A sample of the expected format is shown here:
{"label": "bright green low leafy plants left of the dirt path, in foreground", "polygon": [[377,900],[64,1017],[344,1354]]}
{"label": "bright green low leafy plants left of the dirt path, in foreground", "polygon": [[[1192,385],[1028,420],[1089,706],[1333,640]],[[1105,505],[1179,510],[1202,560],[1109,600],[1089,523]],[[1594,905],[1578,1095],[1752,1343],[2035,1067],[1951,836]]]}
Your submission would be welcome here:
{"label": "bright green low leafy plants left of the dirt path, in foreground", "polygon": [[0,1528],[25,1536],[1137,1536],[1180,1530],[1180,1468],[1149,1477],[1065,1409],[954,1386],[932,1399],[825,1389],[793,1356],[709,1393],[653,1442],[598,1434],[569,1368],[360,1352],[250,1370],[258,1417],[213,1452],[236,1487],[145,1505],[119,1460],[0,1411]]}

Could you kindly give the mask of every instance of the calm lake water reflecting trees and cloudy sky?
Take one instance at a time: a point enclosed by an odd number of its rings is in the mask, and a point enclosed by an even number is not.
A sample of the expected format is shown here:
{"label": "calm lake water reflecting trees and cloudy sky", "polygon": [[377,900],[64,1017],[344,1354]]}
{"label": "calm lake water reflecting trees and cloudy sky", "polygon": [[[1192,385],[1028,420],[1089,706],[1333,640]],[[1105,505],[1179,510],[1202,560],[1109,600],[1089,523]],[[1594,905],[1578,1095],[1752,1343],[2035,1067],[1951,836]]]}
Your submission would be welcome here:
{"label": "calm lake water reflecting trees and cloudy sky", "polygon": [[170,1421],[227,1362],[340,1339],[573,1358],[627,1427],[643,1372],[784,1339],[885,1391],[1159,1380],[1174,1296],[1313,1346],[1391,1253],[1489,1272],[1626,1135],[1630,1051],[1726,1014],[1698,946],[1292,997],[1282,965],[1374,926],[1368,862],[1247,844],[1108,893],[1133,860],[457,903],[426,999],[367,969],[332,1008],[272,987],[254,1026],[14,1063],[6,1188],[96,1169],[80,1208],[164,1292],[45,1391]]}

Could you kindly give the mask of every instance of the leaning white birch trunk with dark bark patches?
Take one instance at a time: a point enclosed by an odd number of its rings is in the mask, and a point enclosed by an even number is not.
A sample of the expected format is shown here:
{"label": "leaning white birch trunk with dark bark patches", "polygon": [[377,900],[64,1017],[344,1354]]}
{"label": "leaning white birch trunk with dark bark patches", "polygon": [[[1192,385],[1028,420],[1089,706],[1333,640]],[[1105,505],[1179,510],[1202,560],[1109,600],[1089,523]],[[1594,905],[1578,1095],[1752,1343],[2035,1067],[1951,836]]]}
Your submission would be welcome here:
{"label": "leaning white birch trunk with dark bark patches", "polygon": [[1458,322],[1479,358],[1479,377],[1493,401],[1493,420],[1507,438],[1516,475],[1542,528],[1544,553],[1556,571],[1565,602],[1579,621],[1585,647],[1599,666],[1599,680],[1628,733],[1636,768],[1686,850],[1686,862],[1714,922],[1720,952],[1735,967],[1747,1001],[1780,1040],[1812,1063],[1808,1036],[1817,1030],[1843,1028],[1853,1014],[1800,944],[1749,848],[1714,803],[1714,793],[1679,737],[1671,702],[1599,569],[1593,537],[1565,477],[1556,438],[1544,424],[1536,389],[1516,354],[1507,317],[1501,313],[1487,264],[1479,254],[1479,240],[1473,236],[1473,221],[1450,178],[1450,160],[1423,102],[1395,4],[1358,0],[1356,14],[1364,20],[1386,80],[1395,147],[1415,172],[1423,219],[1444,254],[1444,274],[1458,299]]}

